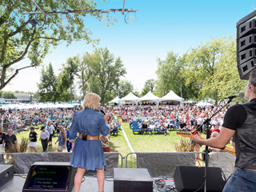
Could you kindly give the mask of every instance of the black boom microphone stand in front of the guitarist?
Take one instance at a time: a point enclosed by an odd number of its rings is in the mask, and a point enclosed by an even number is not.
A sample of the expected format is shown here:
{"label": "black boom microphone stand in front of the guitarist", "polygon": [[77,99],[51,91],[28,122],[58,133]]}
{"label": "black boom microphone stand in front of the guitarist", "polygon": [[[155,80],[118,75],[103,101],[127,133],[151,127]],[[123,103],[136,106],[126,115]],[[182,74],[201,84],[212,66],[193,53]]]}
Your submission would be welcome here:
{"label": "black boom microphone stand in front of the guitarist", "polygon": [[[218,114],[218,112],[220,110],[222,110],[228,103],[230,103],[232,101],[233,98],[230,98],[228,102],[226,102],[226,104],[224,106],[222,106],[219,110],[217,110],[214,114],[212,114],[210,116],[210,118],[207,118],[206,121],[204,121],[202,123],[201,126],[198,126],[198,128],[196,130],[194,130],[192,132],[192,134],[194,134],[195,131],[197,130],[200,130],[202,128],[203,125],[206,124],[206,139],[210,138],[210,130],[209,130],[209,126],[210,126],[210,120],[211,118],[213,118],[215,116],[215,114]],[[206,155],[205,155],[205,163],[206,163],[206,166],[205,166],[205,176],[204,176],[204,184],[202,186],[204,186],[204,192],[206,192],[206,184],[207,184],[207,167],[208,167],[208,146],[206,146]],[[202,188],[202,187],[201,187]],[[199,189],[200,190],[200,189]]]}

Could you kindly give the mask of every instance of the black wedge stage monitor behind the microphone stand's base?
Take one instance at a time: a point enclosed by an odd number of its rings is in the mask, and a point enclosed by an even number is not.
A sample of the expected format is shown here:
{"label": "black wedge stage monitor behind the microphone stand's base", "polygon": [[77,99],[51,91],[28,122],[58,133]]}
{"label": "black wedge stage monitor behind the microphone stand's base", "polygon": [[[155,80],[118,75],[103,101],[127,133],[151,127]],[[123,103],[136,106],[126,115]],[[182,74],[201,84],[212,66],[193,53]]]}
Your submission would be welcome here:
{"label": "black wedge stage monitor behind the microphone stand's base", "polygon": [[[174,172],[175,188],[178,192],[194,192],[203,182],[205,167],[177,166]],[[220,167],[207,167],[207,192],[221,192],[226,184],[225,174]],[[201,190],[204,191],[202,187]]]}

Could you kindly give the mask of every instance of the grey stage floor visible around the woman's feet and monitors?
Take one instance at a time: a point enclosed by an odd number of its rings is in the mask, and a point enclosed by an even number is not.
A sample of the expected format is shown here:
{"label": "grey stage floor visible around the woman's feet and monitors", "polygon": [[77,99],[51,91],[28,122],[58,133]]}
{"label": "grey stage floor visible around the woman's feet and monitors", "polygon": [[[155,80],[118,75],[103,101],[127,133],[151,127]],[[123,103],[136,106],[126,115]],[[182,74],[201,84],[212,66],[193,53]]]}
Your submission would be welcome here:
{"label": "grey stage floor visible around the woman's feet and monitors", "polygon": [[[154,179],[156,179],[156,178],[154,178]],[[22,178],[21,176],[14,176],[14,178],[11,179],[10,182],[7,182],[6,185],[0,187],[0,191],[1,192],[22,191],[25,181],[26,181],[26,178]],[[173,178],[168,178],[166,180],[166,185],[174,185]],[[152,189],[153,189],[153,186],[152,186]],[[72,191],[74,191],[74,189]],[[85,177],[85,181],[82,182],[80,192],[88,192],[88,191],[98,192],[97,178]],[[114,178],[106,178],[104,191],[105,192],[114,192]],[[153,191],[157,192],[158,190],[154,189]]]}

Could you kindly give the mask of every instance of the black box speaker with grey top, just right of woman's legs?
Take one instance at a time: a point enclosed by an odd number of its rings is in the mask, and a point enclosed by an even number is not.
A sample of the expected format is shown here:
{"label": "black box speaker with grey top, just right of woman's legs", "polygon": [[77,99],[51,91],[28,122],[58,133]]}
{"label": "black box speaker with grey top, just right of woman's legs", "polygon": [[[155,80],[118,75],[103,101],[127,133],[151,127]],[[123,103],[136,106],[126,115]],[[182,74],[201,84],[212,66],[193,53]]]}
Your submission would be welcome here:
{"label": "black box speaker with grey top, just right of woman's legs", "polygon": [[153,190],[153,178],[146,168],[114,168],[114,192],[148,192]]}

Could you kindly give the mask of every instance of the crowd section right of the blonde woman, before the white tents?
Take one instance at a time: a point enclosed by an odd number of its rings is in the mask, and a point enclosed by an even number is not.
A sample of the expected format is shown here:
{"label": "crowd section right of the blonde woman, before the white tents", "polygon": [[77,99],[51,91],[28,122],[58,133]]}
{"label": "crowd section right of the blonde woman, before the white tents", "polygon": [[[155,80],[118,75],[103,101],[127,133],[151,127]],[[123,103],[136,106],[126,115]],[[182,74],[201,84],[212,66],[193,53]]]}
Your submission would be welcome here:
{"label": "crowd section right of the blonde woman, before the white tents", "polygon": [[[220,132],[226,110],[218,112],[211,119],[211,134]],[[105,106],[104,110],[110,117],[116,115],[122,119],[122,122],[138,122],[138,126],[142,129],[141,134],[149,131],[154,134],[158,128],[166,135],[168,128],[170,130],[177,128],[178,130],[192,130],[192,126],[201,126],[203,122],[210,118],[217,110],[217,106],[190,106],[181,107],[179,105],[139,105],[139,106]],[[205,134],[206,126],[202,126],[199,131]]]}

